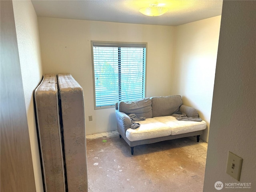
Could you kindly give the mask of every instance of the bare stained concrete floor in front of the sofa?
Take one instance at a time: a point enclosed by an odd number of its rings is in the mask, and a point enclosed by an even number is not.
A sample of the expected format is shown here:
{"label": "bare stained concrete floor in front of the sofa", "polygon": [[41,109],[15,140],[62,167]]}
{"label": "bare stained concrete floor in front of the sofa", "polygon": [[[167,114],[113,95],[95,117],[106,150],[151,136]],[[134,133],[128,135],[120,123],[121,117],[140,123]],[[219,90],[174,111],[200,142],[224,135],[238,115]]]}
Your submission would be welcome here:
{"label": "bare stained concrete floor in front of the sofa", "polygon": [[[102,142],[106,140],[106,142]],[[86,136],[89,192],[203,191],[207,143],[180,138],[134,147],[116,131]]]}

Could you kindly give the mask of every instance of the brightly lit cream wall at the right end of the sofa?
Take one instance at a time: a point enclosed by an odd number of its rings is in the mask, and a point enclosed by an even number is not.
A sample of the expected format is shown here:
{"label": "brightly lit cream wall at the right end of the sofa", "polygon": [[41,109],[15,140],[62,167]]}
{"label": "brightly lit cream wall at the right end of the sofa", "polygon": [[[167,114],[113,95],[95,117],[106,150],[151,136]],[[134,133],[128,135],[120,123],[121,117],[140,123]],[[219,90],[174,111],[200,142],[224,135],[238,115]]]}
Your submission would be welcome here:
{"label": "brightly lit cream wall at the right end of the sofa", "polygon": [[212,93],[221,16],[184,25],[175,29],[172,94],[182,95],[183,103],[193,106],[206,121],[201,138],[208,142]]}

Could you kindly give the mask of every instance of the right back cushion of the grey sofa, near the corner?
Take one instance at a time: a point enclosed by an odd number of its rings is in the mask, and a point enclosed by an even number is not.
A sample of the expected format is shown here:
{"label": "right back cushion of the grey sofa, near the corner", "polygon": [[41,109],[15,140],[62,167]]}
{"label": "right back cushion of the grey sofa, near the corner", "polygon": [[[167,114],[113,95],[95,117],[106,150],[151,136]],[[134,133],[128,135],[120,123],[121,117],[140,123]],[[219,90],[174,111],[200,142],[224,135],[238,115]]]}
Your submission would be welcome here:
{"label": "right back cushion of the grey sofa, near the corner", "polygon": [[180,95],[152,97],[152,117],[168,116],[178,111],[182,105]]}

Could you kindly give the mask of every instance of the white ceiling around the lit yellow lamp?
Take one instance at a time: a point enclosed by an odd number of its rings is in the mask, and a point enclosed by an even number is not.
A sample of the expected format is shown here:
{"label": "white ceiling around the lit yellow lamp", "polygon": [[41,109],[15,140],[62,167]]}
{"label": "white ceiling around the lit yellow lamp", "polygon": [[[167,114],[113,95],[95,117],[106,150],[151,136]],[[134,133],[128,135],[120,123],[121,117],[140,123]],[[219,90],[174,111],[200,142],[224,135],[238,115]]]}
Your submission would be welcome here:
{"label": "white ceiling around the lit yellow lamp", "polygon": [[[154,2],[169,9],[162,16],[149,17],[140,8]],[[178,26],[221,15],[222,0],[32,0],[37,16]]]}

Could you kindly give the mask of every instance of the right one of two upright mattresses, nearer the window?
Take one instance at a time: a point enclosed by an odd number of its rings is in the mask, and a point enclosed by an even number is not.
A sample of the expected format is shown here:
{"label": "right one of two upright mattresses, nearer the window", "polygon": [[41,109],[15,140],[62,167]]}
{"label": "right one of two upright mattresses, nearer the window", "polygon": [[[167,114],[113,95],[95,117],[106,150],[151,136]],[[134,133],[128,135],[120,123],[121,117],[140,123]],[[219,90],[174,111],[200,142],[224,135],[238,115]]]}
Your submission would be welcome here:
{"label": "right one of two upright mattresses, nearer the window", "polygon": [[71,74],[58,74],[68,191],[88,191],[84,97]]}

